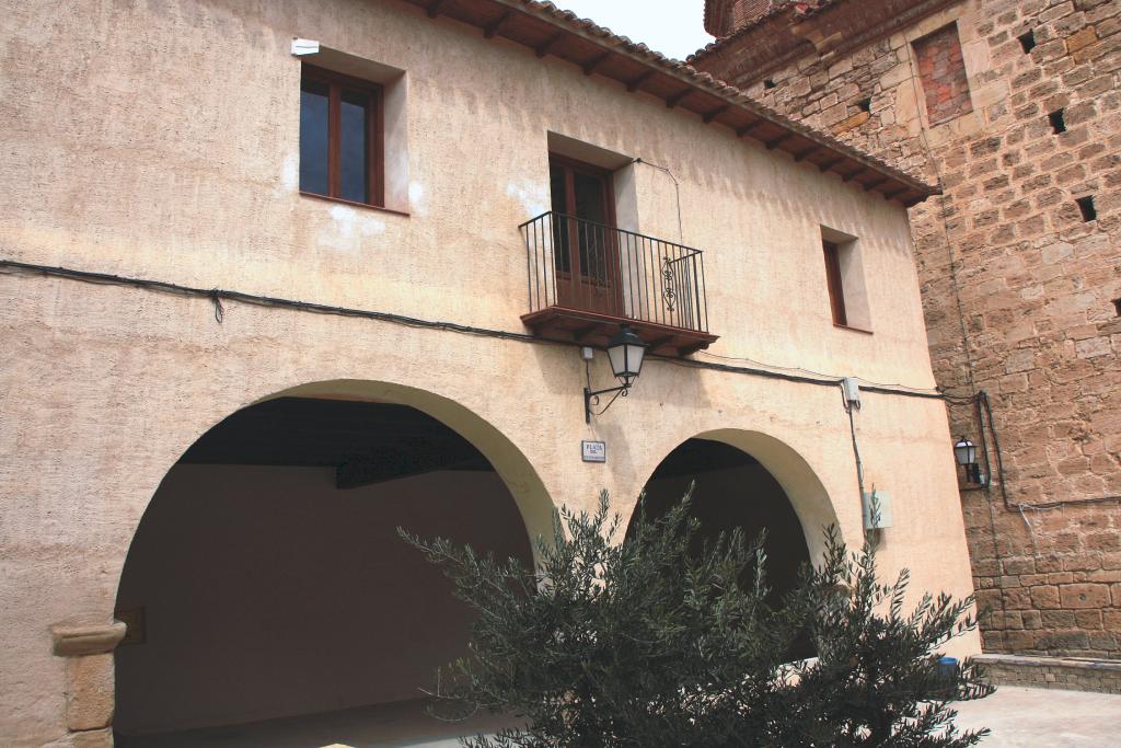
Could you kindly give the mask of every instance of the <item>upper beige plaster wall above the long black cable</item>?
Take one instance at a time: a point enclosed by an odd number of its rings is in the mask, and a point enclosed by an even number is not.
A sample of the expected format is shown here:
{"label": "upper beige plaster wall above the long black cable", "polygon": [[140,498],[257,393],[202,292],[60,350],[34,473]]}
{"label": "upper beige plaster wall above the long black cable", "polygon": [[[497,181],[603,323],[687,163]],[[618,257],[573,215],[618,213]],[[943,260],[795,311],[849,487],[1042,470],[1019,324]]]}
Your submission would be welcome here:
{"label": "upper beige plaster wall above the long black cable", "polygon": [[[714,352],[932,384],[898,206],[655,100],[393,2],[35,10],[6,19],[10,257],[521,330],[516,227],[548,207],[554,131],[682,182],[685,243],[719,280]],[[406,71],[411,216],[297,193],[296,34]],[[112,107],[139,82],[136,103]],[[673,182],[636,167],[636,192],[637,228],[677,239]],[[865,238],[872,338],[832,327],[819,224]]]}

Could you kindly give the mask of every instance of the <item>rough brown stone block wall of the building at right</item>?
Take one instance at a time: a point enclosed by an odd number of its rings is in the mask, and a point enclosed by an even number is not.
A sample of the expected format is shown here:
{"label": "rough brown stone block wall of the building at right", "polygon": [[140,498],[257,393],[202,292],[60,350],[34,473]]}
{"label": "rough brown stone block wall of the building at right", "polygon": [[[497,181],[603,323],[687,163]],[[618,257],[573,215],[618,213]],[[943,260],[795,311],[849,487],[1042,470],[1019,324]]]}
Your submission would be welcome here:
{"label": "rough brown stone block wall of the building at right", "polygon": [[816,52],[694,64],[943,185],[911,225],[938,382],[985,390],[999,437],[991,490],[962,492],[986,650],[1121,657],[1121,3],[965,0],[847,50],[791,19],[767,22]]}

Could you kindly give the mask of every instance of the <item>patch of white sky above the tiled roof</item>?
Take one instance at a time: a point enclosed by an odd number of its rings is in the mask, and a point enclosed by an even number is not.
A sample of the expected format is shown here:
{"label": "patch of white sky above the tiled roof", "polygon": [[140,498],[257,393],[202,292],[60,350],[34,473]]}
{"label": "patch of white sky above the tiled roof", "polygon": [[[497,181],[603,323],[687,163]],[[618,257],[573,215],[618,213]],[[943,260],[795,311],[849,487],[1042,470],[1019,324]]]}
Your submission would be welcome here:
{"label": "patch of white sky above the tiled roof", "polygon": [[704,30],[704,0],[553,0],[553,3],[675,59],[685,59],[713,40]]}

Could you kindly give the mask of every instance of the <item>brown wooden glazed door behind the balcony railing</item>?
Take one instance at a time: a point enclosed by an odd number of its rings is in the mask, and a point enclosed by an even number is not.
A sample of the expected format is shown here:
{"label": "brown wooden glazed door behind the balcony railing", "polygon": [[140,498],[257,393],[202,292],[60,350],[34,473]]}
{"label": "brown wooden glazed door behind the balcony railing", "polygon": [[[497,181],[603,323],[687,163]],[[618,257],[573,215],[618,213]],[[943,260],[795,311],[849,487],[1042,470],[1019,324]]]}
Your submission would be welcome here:
{"label": "brown wooden glazed door behind the balcony railing", "polygon": [[621,316],[619,237],[610,172],[549,155],[553,253],[559,306]]}

